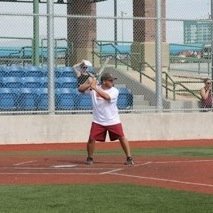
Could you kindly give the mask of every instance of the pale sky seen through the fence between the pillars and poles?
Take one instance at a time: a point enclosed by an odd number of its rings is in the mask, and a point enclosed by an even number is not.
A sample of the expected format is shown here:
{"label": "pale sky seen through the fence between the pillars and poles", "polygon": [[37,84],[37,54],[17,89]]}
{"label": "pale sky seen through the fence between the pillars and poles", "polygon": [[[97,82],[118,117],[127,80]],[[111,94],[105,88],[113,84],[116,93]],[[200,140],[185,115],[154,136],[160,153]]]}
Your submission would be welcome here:
{"label": "pale sky seen through the fence between the pillars and poles", "polygon": [[[210,14],[211,0],[167,0],[167,18],[173,19],[207,19]],[[15,8],[15,10],[14,10]],[[40,4],[40,13],[46,13],[46,5]],[[33,5],[27,3],[0,2],[0,37],[19,36],[32,37],[32,17],[4,16],[3,13],[32,13]],[[66,15],[66,5],[55,5],[56,15]],[[132,41],[132,0],[117,0],[118,40]],[[97,16],[114,16],[114,0],[97,3]],[[98,19],[97,38],[99,40],[114,39],[114,20]],[[167,42],[183,42],[183,22],[169,21],[167,26]],[[40,18],[40,35],[47,35],[46,17]],[[55,18],[55,37],[66,37],[66,18]],[[1,43],[0,39],[0,43]]]}

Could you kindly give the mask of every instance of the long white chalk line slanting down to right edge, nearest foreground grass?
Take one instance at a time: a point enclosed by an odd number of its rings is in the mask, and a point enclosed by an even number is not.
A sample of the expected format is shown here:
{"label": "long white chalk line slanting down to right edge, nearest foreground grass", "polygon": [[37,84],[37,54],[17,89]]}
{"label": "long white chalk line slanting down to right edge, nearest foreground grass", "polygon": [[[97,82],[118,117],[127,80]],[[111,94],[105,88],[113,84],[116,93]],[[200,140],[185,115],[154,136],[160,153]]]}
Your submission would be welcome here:
{"label": "long white chalk line slanting down to right edge, nearest foreground grass", "polygon": [[213,184],[193,183],[193,182],[188,182],[188,181],[178,181],[178,180],[172,180],[172,179],[145,177],[145,176],[128,175],[128,174],[120,174],[120,173],[110,173],[110,174],[111,175],[122,176],[122,177],[136,178],[136,179],[147,179],[147,180],[155,180],[155,181],[162,181],[162,182],[179,183],[179,184],[185,184],[185,185],[213,187]]}

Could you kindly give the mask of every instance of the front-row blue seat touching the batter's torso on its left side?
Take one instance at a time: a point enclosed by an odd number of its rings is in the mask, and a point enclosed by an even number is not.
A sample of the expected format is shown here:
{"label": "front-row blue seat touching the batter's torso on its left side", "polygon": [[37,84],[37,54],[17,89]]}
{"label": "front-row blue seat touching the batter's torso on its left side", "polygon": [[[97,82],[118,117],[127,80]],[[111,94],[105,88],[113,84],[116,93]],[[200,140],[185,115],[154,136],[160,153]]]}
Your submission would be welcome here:
{"label": "front-row blue seat touching the batter's torso on its left side", "polygon": [[78,110],[92,110],[92,98],[90,94],[78,93],[76,108]]}

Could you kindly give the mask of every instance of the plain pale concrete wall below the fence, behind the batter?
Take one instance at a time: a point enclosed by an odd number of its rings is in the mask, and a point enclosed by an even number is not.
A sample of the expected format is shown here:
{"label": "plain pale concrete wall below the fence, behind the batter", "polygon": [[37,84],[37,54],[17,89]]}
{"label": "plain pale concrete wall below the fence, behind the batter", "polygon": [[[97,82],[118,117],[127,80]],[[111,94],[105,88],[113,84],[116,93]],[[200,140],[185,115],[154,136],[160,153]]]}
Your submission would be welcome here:
{"label": "plain pale concrete wall below the fence, behind the batter", "polygon": [[[86,142],[92,115],[2,115],[0,144]],[[129,141],[213,139],[213,113],[121,114]]]}

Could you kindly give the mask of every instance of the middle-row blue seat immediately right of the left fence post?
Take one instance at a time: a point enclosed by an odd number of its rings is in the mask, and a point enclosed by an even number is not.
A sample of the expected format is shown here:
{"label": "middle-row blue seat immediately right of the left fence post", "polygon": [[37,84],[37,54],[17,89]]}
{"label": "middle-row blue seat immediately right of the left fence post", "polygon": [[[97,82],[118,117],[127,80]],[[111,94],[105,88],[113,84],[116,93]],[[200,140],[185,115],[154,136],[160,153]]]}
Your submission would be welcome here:
{"label": "middle-row blue seat immediately right of the left fence post", "polygon": [[56,78],[56,88],[77,88],[78,82],[75,77]]}

